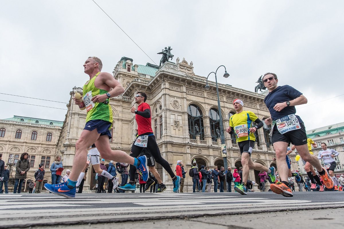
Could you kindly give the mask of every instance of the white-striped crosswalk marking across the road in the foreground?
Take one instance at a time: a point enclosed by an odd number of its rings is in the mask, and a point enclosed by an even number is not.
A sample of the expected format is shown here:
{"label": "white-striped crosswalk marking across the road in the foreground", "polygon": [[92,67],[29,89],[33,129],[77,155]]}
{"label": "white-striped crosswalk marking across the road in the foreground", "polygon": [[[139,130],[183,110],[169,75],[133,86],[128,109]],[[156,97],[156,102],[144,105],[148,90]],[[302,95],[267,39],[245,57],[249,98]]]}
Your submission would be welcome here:
{"label": "white-striped crosswalk marking across the road in the foreground", "polygon": [[[271,196],[275,197],[271,199]],[[276,198],[278,197],[278,198]],[[293,207],[326,206],[309,200],[280,198],[276,195],[129,193],[77,194],[68,199],[53,194],[0,195],[0,228],[88,223],[101,220],[116,222],[137,219],[193,217],[204,214],[233,214],[241,211],[274,210]],[[343,206],[344,202],[332,202]],[[205,211],[204,209],[212,209]],[[22,214],[25,211],[25,214]],[[20,218],[21,220],[17,220]],[[33,220],[34,219],[34,220]],[[32,225],[32,226],[33,226]]]}

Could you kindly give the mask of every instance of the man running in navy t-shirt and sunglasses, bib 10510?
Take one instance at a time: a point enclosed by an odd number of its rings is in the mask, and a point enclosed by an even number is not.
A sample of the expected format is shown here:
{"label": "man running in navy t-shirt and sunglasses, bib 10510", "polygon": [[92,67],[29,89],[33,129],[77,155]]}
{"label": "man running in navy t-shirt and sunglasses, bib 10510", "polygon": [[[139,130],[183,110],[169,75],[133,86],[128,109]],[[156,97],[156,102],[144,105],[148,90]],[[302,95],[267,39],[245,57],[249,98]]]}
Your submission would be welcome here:
{"label": "man running in navy t-shirt and sunglasses, bib 10510", "polygon": [[270,134],[273,148],[276,152],[277,167],[280,181],[271,184],[272,192],[286,197],[292,197],[288,182],[288,165],[286,163],[286,148],[292,143],[301,158],[311,163],[321,175],[325,186],[333,187],[333,181],[327,171],[321,167],[318,158],[308,152],[307,135],[302,119],[295,115],[296,105],[307,103],[301,92],[289,85],[277,86],[278,79],[275,73],[265,73],[263,77],[265,87],[269,94],[264,102],[270,111],[270,117],[265,119],[267,125],[275,121]]}

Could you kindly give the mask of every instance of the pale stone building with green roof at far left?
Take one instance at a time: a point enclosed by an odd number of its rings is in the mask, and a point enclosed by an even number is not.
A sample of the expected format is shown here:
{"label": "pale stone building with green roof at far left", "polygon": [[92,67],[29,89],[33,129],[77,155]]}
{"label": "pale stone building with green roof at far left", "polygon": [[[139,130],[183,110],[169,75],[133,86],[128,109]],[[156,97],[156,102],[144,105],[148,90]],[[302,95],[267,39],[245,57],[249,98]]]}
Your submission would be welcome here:
{"label": "pale stone building with green roof at far left", "polygon": [[34,180],[39,164],[44,164],[44,183],[51,182],[50,165],[56,155],[57,139],[62,122],[40,118],[14,116],[0,119],[0,152],[5,164],[14,165],[10,171],[9,189],[13,191],[15,163],[23,152],[29,153],[30,170],[22,189],[28,191],[28,183]]}

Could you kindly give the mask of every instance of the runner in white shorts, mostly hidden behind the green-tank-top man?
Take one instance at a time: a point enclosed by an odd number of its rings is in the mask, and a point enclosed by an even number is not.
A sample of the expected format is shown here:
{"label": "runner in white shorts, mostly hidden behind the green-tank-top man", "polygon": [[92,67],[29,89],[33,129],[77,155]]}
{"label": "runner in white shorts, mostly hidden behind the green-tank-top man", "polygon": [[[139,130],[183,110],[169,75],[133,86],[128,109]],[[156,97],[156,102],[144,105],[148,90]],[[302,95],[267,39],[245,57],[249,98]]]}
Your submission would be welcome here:
{"label": "runner in white shorts, mostly hidden behind the green-tank-top man", "polygon": [[[93,144],[88,150],[87,161],[86,161],[86,165],[83,171],[86,170],[88,165],[92,165],[96,173],[101,174],[102,176],[105,176],[106,178],[110,179],[109,181],[111,181],[114,184],[114,190],[116,190],[118,186],[118,177],[114,177],[110,173],[108,173],[106,170],[100,169],[99,156],[100,156],[100,153],[98,149],[96,148],[95,144]],[[78,177],[78,181],[76,183],[76,187],[79,187],[82,179],[84,179],[84,175],[85,175],[85,172],[80,173]]]}

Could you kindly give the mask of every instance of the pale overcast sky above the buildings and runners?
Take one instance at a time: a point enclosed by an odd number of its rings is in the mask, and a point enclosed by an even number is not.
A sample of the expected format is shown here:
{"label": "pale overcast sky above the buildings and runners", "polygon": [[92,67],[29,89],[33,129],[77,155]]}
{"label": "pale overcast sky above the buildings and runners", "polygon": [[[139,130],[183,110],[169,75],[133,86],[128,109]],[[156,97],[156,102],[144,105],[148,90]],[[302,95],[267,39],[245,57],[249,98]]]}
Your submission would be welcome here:
{"label": "pale overcast sky above the buildings and runners", "polygon": [[[230,77],[218,81],[250,91],[260,75],[275,72],[279,85],[316,103],[297,106],[308,130],[343,122],[344,95],[318,103],[343,94],[343,1],[95,1],[157,64],[157,53],[171,46],[173,61],[193,61],[196,75],[225,65]],[[110,73],[123,56],[152,63],[92,0],[1,1],[0,28],[1,93],[67,103],[72,88],[88,80],[88,56]],[[66,108],[3,94],[0,100]],[[0,119],[63,121],[66,114],[0,105]]]}

